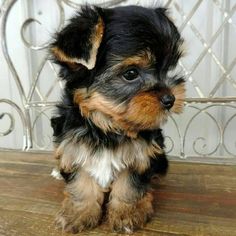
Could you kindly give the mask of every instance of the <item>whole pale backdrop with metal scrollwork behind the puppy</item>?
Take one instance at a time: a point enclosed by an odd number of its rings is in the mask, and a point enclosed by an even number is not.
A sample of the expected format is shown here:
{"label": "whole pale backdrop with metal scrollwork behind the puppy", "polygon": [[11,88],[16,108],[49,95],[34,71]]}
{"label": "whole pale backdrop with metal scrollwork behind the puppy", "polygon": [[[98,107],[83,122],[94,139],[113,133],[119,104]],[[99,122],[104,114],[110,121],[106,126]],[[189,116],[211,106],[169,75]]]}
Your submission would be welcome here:
{"label": "whole pale backdrop with metal scrollwork behind the puppy", "polygon": [[63,82],[48,60],[54,32],[84,3],[164,6],[185,39],[185,111],[163,127],[170,159],[236,163],[236,0],[0,0],[0,149],[52,150]]}

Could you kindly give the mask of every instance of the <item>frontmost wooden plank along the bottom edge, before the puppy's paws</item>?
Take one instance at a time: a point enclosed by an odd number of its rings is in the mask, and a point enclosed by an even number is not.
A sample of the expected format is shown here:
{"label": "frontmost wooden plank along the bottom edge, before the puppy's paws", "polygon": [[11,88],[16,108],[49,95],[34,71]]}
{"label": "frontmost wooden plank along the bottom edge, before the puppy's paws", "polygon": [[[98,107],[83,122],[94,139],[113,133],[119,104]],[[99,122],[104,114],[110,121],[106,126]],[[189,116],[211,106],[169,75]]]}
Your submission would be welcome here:
{"label": "frontmost wooden plank along the bottom edge, before the puppy's paws", "polygon": [[[54,228],[54,216],[24,212],[1,210],[0,235],[4,236],[69,236],[72,234],[62,233]],[[90,231],[79,233],[80,236],[96,235],[124,235],[110,232],[107,225],[99,226]],[[159,230],[145,228],[139,230],[134,236],[177,236],[178,233],[162,232]],[[181,234],[184,235],[184,234]]]}

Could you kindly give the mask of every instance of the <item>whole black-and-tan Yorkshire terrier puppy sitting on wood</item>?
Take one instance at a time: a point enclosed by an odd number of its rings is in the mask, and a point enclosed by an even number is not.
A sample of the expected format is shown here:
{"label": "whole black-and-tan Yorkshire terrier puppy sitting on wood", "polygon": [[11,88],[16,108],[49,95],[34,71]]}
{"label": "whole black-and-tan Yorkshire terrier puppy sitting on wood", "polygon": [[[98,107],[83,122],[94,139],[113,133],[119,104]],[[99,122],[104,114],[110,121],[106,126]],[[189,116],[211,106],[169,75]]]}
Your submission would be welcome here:
{"label": "whole black-and-tan Yorkshire terrier puppy sitting on wood", "polygon": [[50,51],[65,88],[51,123],[66,182],[62,230],[96,227],[105,214],[111,229],[129,233],[150,219],[151,177],[168,168],[160,126],[184,104],[184,79],[169,73],[182,42],[166,9],[138,6],[85,6],[56,34]]}

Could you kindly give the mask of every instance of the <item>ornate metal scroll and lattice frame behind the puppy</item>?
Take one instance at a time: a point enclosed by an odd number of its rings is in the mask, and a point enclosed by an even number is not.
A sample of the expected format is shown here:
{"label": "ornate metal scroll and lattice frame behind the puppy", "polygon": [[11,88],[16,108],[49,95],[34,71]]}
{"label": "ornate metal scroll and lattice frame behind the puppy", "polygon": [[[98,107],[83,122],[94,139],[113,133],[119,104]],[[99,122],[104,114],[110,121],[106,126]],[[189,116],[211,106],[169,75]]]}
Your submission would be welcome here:
{"label": "ornate metal scroll and lattice frame behind the puppy", "polygon": [[[107,7],[110,7],[110,6],[114,6],[114,5],[120,4],[122,2],[125,2],[125,1],[126,0],[110,0],[110,1],[105,1],[101,5],[102,6],[105,5]],[[178,127],[175,119],[173,117],[171,118],[171,120],[174,122],[176,130],[178,132],[179,140],[180,140],[180,142],[179,142],[180,143],[180,153],[179,153],[179,155],[174,156],[173,158],[175,158],[176,160],[190,160],[190,161],[200,161],[200,162],[211,162],[213,160],[214,162],[218,161],[219,163],[231,163],[232,164],[232,163],[236,163],[236,151],[232,152],[227,148],[227,145],[224,142],[224,135],[225,135],[225,132],[226,132],[230,122],[232,122],[236,118],[236,96],[234,96],[234,97],[214,97],[214,95],[224,80],[228,80],[236,88],[236,81],[230,75],[230,72],[232,71],[232,69],[234,68],[234,66],[236,64],[236,57],[234,58],[232,63],[229,65],[229,67],[225,68],[223,66],[223,64],[220,62],[220,60],[217,58],[217,56],[214,54],[214,52],[211,50],[211,46],[214,43],[214,41],[216,40],[216,38],[218,37],[218,35],[222,32],[226,23],[234,24],[234,22],[231,20],[231,17],[236,11],[236,4],[234,4],[233,7],[229,11],[226,11],[225,9],[222,8],[222,6],[220,4],[220,0],[212,0],[212,1],[219,8],[219,10],[222,11],[222,13],[224,13],[225,18],[224,18],[223,23],[219,27],[219,29],[215,32],[215,34],[212,36],[210,42],[208,42],[208,43],[201,36],[198,29],[191,23],[191,17],[193,16],[195,11],[197,10],[199,5],[201,4],[202,0],[196,0],[194,7],[192,8],[191,12],[188,15],[185,15],[182,8],[174,0],[168,0],[168,1],[166,1],[166,4],[165,4],[166,7],[168,7],[172,4],[176,8],[177,12],[183,18],[183,22],[182,22],[181,26],[179,27],[180,31],[183,31],[184,27],[186,25],[188,25],[191,28],[192,32],[198,37],[199,41],[204,45],[204,50],[201,52],[201,54],[199,55],[199,57],[197,58],[196,62],[194,63],[194,65],[192,66],[192,68],[190,70],[186,70],[184,65],[180,62],[180,67],[182,68],[183,72],[185,73],[187,80],[191,81],[191,83],[194,85],[196,91],[198,92],[199,98],[188,97],[186,99],[186,108],[196,109],[197,113],[194,114],[194,116],[192,116],[192,118],[190,119],[189,123],[186,126],[185,131],[182,132],[182,134],[179,130],[179,127]],[[3,99],[0,99],[0,105],[2,103],[8,104],[19,114],[19,117],[21,119],[22,126],[23,126],[22,150],[24,150],[24,151],[37,151],[32,148],[33,147],[33,132],[32,132],[32,130],[34,128],[34,123],[36,122],[36,120],[38,119],[38,116],[40,114],[42,114],[45,110],[51,109],[52,107],[54,107],[54,105],[56,105],[57,102],[56,101],[55,102],[47,101],[47,97],[48,97],[47,95],[45,97],[42,96],[42,98],[43,98],[42,101],[33,101],[32,97],[33,97],[33,93],[35,91],[37,91],[38,95],[41,96],[40,91],[37,88],[37,82],[38,82],[39,75],[42,71],[44,64],[46,62],[49,63],[49,65],[50,65],[51,69],[54,71],[55,75],[56,75],[56,70],[55,70],[53,64],[50,61],[48,61],[48,56],[45,55],[41,65],[38,69],[38,73],[37,73],[36,77],[33,79],[30,91],[28,94],[26,94],[26,92],[22,86],[21,78],[19,77],[19,75],[14,67],[14,64],[11,60],[11,57],[9,55],[8,45],[7,45],[7,40],[6,40],[7,19],[9,16],[9,12],[11,11],[12,7],[14,6],[14,4],[16,2],[17,2],[17,0],[4,0],[2,3],[1,11],[0,11],[0,35],[1,35],[2,52],[3,52],[5,60],[7,62],[9,71],[11,72],[12,77],[14,79],[14,82],[17,85],[17,88],[18,88],[18,91],[20,94],[20,98],[21,98],[21,104],[17,104],[15,101],[11,101],[9,99],[3,98]],[[63,4],[73,7],[73,8],[78,8],[80,6],[80,4],[75,3],[73,0],[56,0],[56,3],[59,8],[59,11],[60,11],[60,21],[59,21],[59,25],[57,26],[57,29],[59,30],[63,27],[63,24],[65,22],[65,13],[64,13]],[[27,46],[31,50],[46,49],[50,42],[47,42],[43,45],[32,45],[30,42],[27,41],[27,39],[25,37],[26,28],[30,24],[35,23],[35,22],[40,24],[40,22],[34,18],[29,18],[29,19],[25,20],[25,22],[22,24],[22,27],[21,27],[22,41],[25,44],[25,46]],[[235,27],[235,25],[234,25],[234,27]],[[197,66],[199,65],[199,63],[201,62],[202,58],[207,53],[209,53],[211,55],[212,59],[218,65],[219,69],[222,71],[222,76],[218,79],[218,82],[216,83],[216,85],[212,89],[212,91],[210,92],[209,96],[204,97],[204,95],[201,93],[201,89],[199,88],[199,86],[197,84],[197,81],[195,81],[194,78],[192,78],[192,74],[193,74],[194,70],[197,68]],[[58,82],[60,83],[59,79],[57,78],[55,80],[55,83],[58,83]],[[52,88],[50,88],[50,89],[52,89]],[[48,91],[48,95],[50,94],[50,91],[51,91],[50,89]],[[202,104],[203,106],[199,107],[199,104]],[[211,109],[212,107],[232,108],[235,110],[235,113],[228,118],[228,120],[226,121],[226,123],[224,125],[221,125],[216,120],[216,118],[214,118],[210,114],[209,109]],[[35,118],[34,121],[32,121],[32,117],[30,116],[30,109],[40,109],[39,115]],[[219,142],[216,145],[216,147],[214,148],[214,150],[212,150],[211,152],[202,153],[201,151],[198,151],[196,149],[195,145],[196,145],[196,142],[198,142],[198,141],[205,142],[205,139],[204,139],[204,137],[197,137],[193,143],[193,149],[196,153],[196,156],[189,156],[187,153],[185,153],[186,134],[188,132],[189,126],[191,125],[191,122],[199,114],[202,114],[202,113],[206,114],[216,124],[216,127],[219,132]],[[10,126],[6,131],[0,132],[0,136],[6,136],[6,135],[10,134],[15,128],[14,127],[14,117],[12,116],[12,114],[10,114],[9,112],[0,113],[0,121],[1,121],[1,118],[3,118],[3,116],[9,117]],[[171,143],[169,151],[171,152],[174,148],[174,141],[170,137],[169,137],[169,140]],[[203,145],[206,145],[206,143],[204,143]],[[226,155],[217,158],[216,156],[214,156],[214,153],[216,152],[216,150],[219,147],[222,147],[225,150]],[[4,148],[2,148],[2,150],[4,150]],[[213,158],[212,157],[208,158],[211,155],[213,155]],[[201,158],[201,157],[204,157],[204,158]]]}

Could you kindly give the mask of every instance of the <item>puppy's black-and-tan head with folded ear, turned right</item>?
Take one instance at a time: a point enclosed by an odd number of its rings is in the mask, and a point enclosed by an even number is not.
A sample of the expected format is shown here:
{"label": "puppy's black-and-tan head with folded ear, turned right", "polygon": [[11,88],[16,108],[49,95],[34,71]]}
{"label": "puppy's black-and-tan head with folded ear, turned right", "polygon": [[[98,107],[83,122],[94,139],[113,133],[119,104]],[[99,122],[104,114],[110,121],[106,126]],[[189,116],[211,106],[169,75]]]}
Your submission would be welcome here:
{"label": "puppy's black-and-tan head with folded ear, turned right", "polygon": [[163,8],[84,7],[51,46],[65,91],[104,132],[135,137],[183,109],[184,79],[170,75],[183,40]]}

